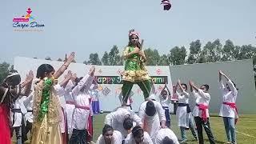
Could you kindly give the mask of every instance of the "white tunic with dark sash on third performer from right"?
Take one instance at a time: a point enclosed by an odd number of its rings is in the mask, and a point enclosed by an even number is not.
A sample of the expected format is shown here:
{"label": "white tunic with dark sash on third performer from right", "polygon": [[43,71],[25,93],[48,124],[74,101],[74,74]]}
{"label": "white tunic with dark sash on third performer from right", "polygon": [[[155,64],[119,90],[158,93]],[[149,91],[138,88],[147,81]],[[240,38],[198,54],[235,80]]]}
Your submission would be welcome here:
{"label": "white tunic with dark sash on third performer from right", "polygon": [[[186,91],[182,91],[182,93],[178,93],[176,91],[176,94],[178,95],[178,103],[189,103],[189,97],[190,94]],[[186,106],[178,106],[177,112],[176,112],[176,118],[178,122],[178,126],[189,128],[189,118],[191,117],[191,114],[186,112]]]}

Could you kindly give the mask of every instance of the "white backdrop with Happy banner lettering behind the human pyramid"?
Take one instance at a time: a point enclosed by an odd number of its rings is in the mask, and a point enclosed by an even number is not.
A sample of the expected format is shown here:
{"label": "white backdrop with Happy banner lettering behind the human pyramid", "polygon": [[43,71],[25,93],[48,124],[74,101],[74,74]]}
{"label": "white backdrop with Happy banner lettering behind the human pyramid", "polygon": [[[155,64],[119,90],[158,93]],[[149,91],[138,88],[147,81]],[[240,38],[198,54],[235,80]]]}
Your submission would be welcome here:
{"label": "white backdrop with Happy banner lettering behind the human pyramid", "polygon": [[[63,62],[58,61],[46,61],[44,59],[34,59],[34,58],[22,58],[17,57],[14,59],[14,69],[18,70],[19,74],[22,76],[22,80],[26,78],[26,73],[29,70],[34,71],[34,76],[36,76],[36,71],[38,66],[43,63],[49,63],[54,66],[55,70],[58,70],[62,66]],[[100,101],[100,109],[104,111],[114,110],[117,106],[121,106],[121,103],[118,99],[118,95],[121,92],[122,81],[120,73],[124,70],[124,66],[95,66],[95,78],[98,82],[98,94]],[[90,66],[82,63],[71,63],[69,68],[66,70],[62,77],[58,79],[60,82],[63,79],[63,76],[67,73],[68,70],[76,73],[78,77],[83,77],[88,73]],[[157,95],[162,90],[162,87],[165,83],[168,84],[170,91],[172,93],[172,82],[170,78],[169,66],[147,66],[146,69],[149,71],[152,80],[156,83],[155,87],[157,90]],[[133,89],[133,109],[138,111],[138,107],[141,102],[143,102],[142,90],[137,85],[134,85]],[[170,110],[172,110],[170,106]]]}

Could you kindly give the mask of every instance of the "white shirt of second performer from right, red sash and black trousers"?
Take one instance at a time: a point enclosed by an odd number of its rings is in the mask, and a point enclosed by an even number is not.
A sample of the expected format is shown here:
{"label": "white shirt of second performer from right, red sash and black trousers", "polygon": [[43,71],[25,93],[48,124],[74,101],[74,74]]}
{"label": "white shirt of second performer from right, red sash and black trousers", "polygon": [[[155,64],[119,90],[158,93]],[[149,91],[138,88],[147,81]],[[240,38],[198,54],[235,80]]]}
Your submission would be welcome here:
{"label": "white shirt of second performer from right, red sash and black trousers", "polygon": [[[194,97],[196,98],[195,102],[197,104],[203,104],[205,106],[209,106],[210,102],[210,94],[203,92],[201,89],[198,89],[198,93],[194,90],[192,91]],[[194,106],[193,113],[194,117],[202,117],[202,110],[199,110],[198,106]],[[209,110],[206,109],[206,117],[209,118]]]}

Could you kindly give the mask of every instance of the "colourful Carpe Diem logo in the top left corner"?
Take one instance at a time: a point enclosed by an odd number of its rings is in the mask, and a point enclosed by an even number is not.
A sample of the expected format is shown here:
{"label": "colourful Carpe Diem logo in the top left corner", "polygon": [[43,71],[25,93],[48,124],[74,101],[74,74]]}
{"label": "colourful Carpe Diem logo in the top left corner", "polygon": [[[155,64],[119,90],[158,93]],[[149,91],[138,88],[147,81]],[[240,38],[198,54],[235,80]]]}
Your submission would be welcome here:
{"label": "colourful Carpe Diem logo in the top left corner", "polygon": [[42,31],[45,25],[39,23],[32,10],[28,8],[26,14],[18,18],[13,18],[14,31]]}

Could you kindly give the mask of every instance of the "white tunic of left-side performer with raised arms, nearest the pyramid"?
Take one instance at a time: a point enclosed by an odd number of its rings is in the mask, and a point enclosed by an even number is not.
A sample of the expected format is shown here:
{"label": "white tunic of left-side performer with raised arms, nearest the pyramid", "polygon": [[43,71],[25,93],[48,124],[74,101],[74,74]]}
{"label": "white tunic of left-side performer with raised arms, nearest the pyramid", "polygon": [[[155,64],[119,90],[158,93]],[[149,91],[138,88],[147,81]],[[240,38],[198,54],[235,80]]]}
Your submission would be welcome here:
{"label": "white tunic of left-side performer with raised arms, nearest the pyramid", "polygon": [[[90,89],[93,80],[94,77],[87,74],[72,90],[71,95],[73,96],[74,103],[77,106],[86,106],[90,108],[90,95],[88,90]],[[76,130],[86,130],[89,116],[90,110],[74,108],[72,128]]]}

